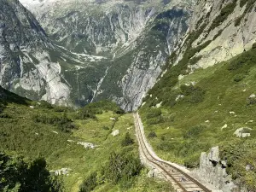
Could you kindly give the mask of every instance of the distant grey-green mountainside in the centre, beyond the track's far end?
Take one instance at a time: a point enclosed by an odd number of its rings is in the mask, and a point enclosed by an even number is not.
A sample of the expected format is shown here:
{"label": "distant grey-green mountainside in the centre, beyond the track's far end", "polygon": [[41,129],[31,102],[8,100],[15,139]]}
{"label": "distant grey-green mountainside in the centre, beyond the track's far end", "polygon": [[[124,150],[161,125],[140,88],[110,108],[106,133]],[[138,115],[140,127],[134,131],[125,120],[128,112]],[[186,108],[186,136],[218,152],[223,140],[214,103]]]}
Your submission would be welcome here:
{"label": "distant grey-green mountainside in the centre, beyond the track's far end", "polygon": [[[136,109],[188,28],[194,1],[27,1],[49,37],[60,46],[106,61],[94,70],[67,70],[77,104],[111,98]],[[86,78],[84,77],[86,74]]]}

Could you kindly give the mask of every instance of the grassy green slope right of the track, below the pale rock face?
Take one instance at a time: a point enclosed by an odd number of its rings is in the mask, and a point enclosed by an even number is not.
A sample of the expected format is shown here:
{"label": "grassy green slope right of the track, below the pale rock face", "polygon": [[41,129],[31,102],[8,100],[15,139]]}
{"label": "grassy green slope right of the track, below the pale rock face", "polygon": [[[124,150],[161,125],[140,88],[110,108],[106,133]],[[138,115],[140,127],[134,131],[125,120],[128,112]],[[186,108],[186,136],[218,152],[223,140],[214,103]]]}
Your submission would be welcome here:
{"label": "grassy green slope right of the track, below the pale rock face", "polygon": [[[198,69],[175,84],[166,81],[172,77],[160,79],[140,108],[146,134],[155,133],[148,139],[157,153],[196,167],[201,152],[218,145],[232,177],[255,190],[255,61],[256,49],[251,49],[230,61]],[[162,106],[155,108],[160,102]],[[234,132],[241,127],[251,128],[245,129],[251,137],[236,137]]]}

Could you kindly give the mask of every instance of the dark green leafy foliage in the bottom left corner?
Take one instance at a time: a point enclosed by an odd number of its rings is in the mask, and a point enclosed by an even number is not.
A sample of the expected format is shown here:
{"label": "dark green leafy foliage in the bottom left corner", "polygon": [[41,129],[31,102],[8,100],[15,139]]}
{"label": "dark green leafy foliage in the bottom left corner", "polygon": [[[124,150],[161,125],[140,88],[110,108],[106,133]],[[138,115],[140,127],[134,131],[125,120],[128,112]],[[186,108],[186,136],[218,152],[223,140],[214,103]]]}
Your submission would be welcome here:
{"label": "dark green leafy foliage in the bottom left corner", "polygon": [[26,163],[21,158],[0,152],[0,191],[61,192],[57,177],[50,175],[42,158]]}

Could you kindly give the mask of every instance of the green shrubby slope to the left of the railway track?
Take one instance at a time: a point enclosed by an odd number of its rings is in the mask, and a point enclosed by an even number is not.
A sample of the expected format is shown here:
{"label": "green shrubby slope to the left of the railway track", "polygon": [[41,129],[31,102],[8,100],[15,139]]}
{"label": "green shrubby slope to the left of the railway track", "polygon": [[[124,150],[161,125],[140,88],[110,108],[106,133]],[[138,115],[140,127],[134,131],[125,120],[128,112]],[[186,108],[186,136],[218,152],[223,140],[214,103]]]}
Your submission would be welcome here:
{"label": "green shrubby slope to the left of the railway track", "polygon": [[[74,110],[32,102],[1,87],[0,97],[0,150],[4,151],[0,191],[32,191],[37,187],[33,183],[41,187],[38,191],[56,191],[57,187],[57,191],[76,192],[172,190],[170,183],[147,177],[148,170],[138,157],[132,115],[113,102],[91,103]],[[114,130],[119,130],[118,136],[110,134]],[[83,143],[94,148],[84,148]],[[65,175],[49,174],[61,168],[67,168]],[[37,177],[39,173],[42,177]]]}

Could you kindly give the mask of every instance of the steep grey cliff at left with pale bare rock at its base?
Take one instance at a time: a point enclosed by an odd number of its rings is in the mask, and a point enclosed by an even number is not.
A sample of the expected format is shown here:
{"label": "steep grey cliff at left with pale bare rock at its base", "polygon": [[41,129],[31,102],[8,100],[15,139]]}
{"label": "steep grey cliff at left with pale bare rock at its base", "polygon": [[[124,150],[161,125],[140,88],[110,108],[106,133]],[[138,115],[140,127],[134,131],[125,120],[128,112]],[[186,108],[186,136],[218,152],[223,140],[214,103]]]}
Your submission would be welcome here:
{"label": "steep grey cliff at left with pale bare rock at its base", "polygon": [[0,84],[21,96],[67,104],[70,89],[50,59],[55,47],[38,21],[18,0],[0,4]]}

